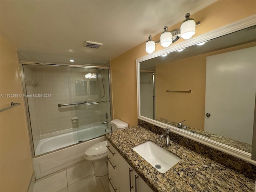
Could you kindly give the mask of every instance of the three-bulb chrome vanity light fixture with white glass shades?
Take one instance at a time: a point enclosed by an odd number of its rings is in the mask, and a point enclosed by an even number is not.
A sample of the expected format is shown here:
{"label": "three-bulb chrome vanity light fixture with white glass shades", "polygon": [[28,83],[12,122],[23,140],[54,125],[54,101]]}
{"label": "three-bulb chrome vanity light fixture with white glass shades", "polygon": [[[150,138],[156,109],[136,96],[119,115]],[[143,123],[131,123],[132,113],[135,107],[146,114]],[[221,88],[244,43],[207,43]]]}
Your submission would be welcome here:
{"label": "three-bulb chrome vanity light fixture with white glass shades", "polygon": [[201,22],[195,22],[194,19],[190,18],[190,13],[185,15],[185,20],[182,22],[180,29],[174,29],[168,31],[168,27],[164,26],[164,32],[160,36],[160,40],[152,40],[152,36],[148,36],[148,41],[146,42],[146,52],[149,54],[153,53],[156,50],[155,44],[160,42],[161,46],[167,48],[170,44],[176,42],[182,37],[187,40],[190,39],[196,33],[196,25],[199,25]]}

